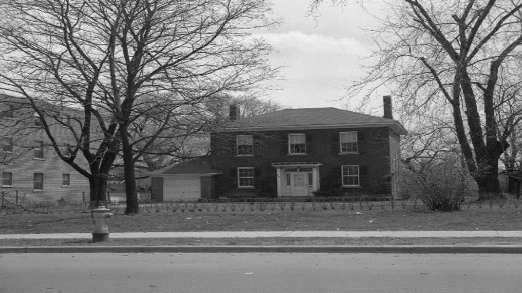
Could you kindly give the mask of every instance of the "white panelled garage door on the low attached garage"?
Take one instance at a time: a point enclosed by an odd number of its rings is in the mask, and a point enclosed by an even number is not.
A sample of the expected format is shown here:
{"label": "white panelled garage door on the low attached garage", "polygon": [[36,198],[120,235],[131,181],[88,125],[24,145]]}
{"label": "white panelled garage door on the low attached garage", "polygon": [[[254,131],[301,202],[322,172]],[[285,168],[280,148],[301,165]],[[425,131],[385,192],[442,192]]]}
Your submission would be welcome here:
{"label": "white panelled garage door on the low attached garage", "polygon": [[199,178],[166,178],[163,186],[163,200],[201,198]]}

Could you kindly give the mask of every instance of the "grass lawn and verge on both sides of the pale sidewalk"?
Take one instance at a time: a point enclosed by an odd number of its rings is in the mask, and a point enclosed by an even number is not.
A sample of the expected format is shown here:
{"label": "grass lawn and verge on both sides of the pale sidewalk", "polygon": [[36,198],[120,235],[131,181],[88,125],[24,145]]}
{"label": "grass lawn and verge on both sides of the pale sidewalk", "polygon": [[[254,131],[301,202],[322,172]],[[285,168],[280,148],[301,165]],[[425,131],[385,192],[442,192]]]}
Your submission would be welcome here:
{"label": "grass lawn and verge on both sides of the pale sidewalk", "polygon": [[[123,215],[115,209],[111,233],[191,231],[450,231],[520,230],[522,208],[462,208],[454,212],[433,212],[422,208],[317,209],[264,211],[161,210],[142,209],[137,215]],[[0,234],[90,233],[87,212],[3,213]],[[257,239],[111,239],[109,245],[386,245],[386,244],[520,244],[518,238],[257,238]],[[86,239],[0,240],[0,246],[99,245]]]}

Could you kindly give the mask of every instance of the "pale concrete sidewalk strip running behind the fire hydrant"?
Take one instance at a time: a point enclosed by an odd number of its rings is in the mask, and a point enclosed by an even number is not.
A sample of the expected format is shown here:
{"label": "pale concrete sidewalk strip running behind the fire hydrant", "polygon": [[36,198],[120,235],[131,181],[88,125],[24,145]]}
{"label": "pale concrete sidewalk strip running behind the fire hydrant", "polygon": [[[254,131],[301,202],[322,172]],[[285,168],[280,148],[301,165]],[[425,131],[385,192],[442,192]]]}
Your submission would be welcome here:
{"label": "pale concrete sidewalk strip running behind the fire hydrant", "polygon": [[[223,232],[149,232],[111,233],[111,239],[123,238],[522,238],[522,231],[223,231]],[[4,234],[0,239],[83,239],[91,233]]]}

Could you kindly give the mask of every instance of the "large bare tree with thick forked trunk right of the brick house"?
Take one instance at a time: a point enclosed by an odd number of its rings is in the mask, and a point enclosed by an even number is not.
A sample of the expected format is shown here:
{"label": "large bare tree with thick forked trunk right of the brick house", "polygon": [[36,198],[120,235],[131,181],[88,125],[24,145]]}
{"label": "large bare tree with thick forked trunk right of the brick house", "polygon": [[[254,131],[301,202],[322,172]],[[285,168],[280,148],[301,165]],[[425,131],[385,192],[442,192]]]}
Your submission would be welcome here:
{"label": "large bare tree with thick forked trunk right of the brick house", "polygon": [[499,157],[519,121],[514,117],[516,123],[499,129],[496,110],[506,106],[499,99],[499,83],[520,58],[522,1],[402,0],[388,5],[391,14],[379,19],[382,26],[374,31],[378,61],[349,95],[387,85],[410,114],[450,109],[480,198],[498,195]]}

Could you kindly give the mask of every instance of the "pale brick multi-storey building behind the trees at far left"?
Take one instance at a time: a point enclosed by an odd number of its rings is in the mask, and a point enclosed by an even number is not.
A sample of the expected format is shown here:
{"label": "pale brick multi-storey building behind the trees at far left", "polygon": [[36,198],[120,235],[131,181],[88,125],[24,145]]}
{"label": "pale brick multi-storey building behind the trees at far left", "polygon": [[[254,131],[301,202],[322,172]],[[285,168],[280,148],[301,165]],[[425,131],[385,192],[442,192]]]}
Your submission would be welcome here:
{"label": "pale brick multi-storey building behind the trees at far left", "polygon": [[[23,99],[1,95],[0,99],[0,192],[6,198],[18,194],[30,201],[89,200],[89,181],[57,156],[42,121]],[[55,118],[45,118],[49,130],[67,151],[74,139],[70,129]],[[62,109],[61,122],[74,123],[74,110]],[[85,159],[75,160],[87,167]]]}

